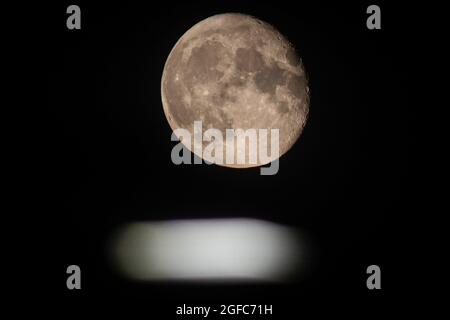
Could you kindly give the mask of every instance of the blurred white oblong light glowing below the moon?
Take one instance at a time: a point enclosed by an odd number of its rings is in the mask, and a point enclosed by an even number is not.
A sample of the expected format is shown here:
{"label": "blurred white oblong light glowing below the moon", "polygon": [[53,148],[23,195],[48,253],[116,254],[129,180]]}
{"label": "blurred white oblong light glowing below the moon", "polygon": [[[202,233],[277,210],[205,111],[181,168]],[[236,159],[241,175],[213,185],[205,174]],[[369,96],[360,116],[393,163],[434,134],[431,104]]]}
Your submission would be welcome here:
{"label": "blurred white oblong light glowing below the moon", "polygon": [[294,230],[254,219],[132,223],[112,249],[138,280],[278,281],[298,271],[303,253]]}

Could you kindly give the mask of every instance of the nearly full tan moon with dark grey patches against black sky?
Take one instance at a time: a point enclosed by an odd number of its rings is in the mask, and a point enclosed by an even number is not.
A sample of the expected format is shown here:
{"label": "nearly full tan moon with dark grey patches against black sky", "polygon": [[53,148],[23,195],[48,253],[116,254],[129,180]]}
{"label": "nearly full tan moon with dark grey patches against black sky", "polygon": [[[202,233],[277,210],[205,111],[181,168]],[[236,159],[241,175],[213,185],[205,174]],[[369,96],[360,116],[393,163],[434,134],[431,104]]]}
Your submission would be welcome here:
{"label": "nearly full tan moon with dark grey patches against black sky", "polygon": [[[200,158],[235,168],[259,166],[286,153],[299,138],[309,111],[309,88],[303,64],[294,47],[274,27],[243,14],[209,17],[189,29],[170,52],[162,75],[161,95],[172,128],[187,129],[194,121],[203,131],[215,128],[279,130],[279,154],[258,156],[249,141],[234,144],[246,162],[218,163],[185,143]],[[176,132],[176,131],[175,131]],[[194,140],[194,139],[193,139]],[[211,142],[201,142],[205,148]],[[225,150],[225,149],[224,149]],[[225,156],[224,156],[225,159]]]}

